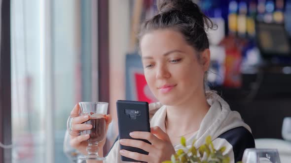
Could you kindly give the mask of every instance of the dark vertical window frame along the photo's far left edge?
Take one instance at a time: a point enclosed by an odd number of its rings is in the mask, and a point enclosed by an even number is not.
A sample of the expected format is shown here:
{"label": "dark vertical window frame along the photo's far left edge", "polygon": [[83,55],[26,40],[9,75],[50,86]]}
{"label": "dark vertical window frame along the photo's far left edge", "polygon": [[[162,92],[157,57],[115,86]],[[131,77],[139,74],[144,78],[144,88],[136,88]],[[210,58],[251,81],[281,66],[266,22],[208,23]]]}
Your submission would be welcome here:
{"label": "dark vertical window frame along the photo's far left edge", "polygon": [[[11,144],[10,0],[1,3],[0,44],[0,142]],[[0,148],[0,163],[11,163],[11,149]]]}

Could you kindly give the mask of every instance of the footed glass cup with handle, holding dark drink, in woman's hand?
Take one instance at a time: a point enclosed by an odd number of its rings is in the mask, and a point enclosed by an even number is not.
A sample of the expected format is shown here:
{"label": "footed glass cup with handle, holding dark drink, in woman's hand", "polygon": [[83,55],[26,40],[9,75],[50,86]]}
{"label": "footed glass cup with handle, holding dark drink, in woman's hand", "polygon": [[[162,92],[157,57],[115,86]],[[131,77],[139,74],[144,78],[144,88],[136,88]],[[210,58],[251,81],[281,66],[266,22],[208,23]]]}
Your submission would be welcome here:
{"label": "footed glass cup with handle, holding dark drink, in woman's hand", "polygon": [[[104,157],[98,155],[98,143],[106,138],[106,114],[108,103],[103,102],[80,102],[80,116],[89,115],[90,119],[84,124],[91,124],[91,130],[80,131],[79,135],[89,134],[90,138],[87,140],[88,155],[79,155],[80,160],[106,160]],[[69,133],[72,131],[71,123],[73,118],[70,116],[67,122]]]}

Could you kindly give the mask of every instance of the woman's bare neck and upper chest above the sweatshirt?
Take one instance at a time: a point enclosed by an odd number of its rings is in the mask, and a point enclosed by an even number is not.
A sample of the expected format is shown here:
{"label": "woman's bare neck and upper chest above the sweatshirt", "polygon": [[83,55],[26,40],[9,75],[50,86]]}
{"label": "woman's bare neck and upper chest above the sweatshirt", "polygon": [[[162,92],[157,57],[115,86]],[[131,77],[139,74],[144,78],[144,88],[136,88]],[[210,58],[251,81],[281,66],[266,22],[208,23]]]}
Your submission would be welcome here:
{"label": "woman's bare neck and upper chest above the sweatshirt", "polygon": [[182,136],[197,131],[209,108],[204,93],[195,94],[180,105],[167,106],[166,130],[169,136]]}

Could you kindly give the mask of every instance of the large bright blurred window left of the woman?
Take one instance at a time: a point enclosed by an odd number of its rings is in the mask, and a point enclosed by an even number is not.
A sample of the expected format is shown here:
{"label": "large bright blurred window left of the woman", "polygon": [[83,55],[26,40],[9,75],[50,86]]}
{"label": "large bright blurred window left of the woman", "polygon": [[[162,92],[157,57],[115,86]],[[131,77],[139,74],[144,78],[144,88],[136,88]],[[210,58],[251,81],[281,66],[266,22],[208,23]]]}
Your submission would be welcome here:
{"label": "large bright blurred window left of the woman", "polygon": [[96,10],[95,0],[11,0],[12,163],[69,163],[68,115],[98,99]]}

